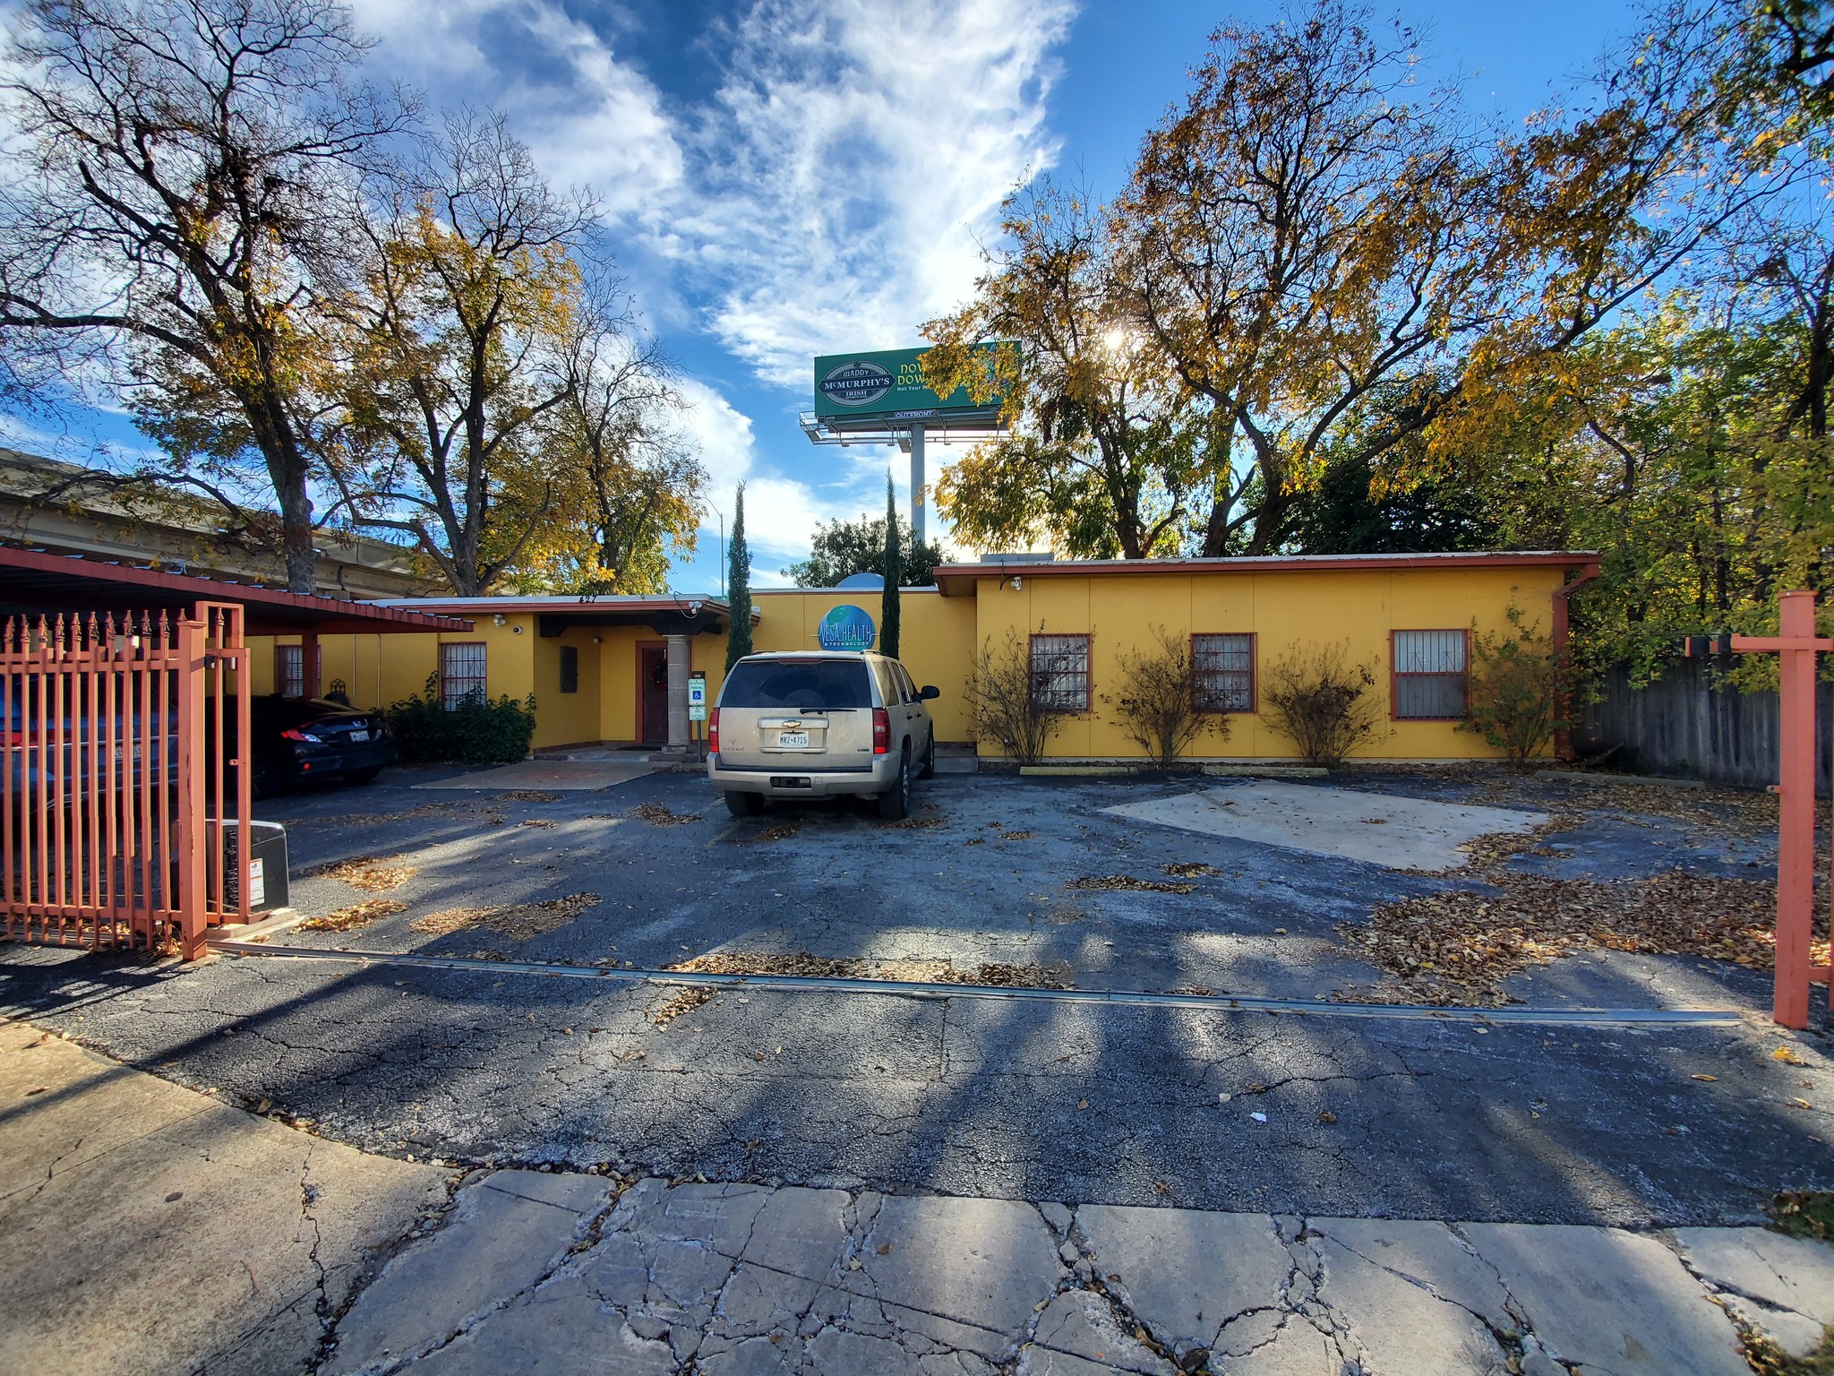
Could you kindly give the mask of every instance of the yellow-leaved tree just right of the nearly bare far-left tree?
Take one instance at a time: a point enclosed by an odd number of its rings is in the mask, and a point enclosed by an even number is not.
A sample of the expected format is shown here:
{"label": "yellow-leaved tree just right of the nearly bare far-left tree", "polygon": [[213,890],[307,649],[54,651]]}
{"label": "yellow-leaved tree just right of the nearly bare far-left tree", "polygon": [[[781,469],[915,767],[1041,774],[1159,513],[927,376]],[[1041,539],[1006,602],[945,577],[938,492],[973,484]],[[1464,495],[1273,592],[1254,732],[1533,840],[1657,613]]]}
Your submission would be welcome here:
{"label": "yellow-leaved tree just right of the nearly bare far-left tree", "polygon": [[369,464],[343,505],[413,536],[460,596],[488,593],[565,519],[576,475],[554,437],[592,218],[589,193],[554,191],[501,117],[468,110],[365,216],[345,413]]}

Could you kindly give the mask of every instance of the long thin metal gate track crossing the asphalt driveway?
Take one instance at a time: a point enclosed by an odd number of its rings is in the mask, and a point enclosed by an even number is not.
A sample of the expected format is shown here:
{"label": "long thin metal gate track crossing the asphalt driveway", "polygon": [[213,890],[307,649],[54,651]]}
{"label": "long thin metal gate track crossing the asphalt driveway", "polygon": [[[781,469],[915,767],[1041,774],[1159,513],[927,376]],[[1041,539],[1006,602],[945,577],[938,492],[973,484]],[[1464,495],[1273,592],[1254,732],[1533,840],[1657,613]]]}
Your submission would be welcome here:
{"label": "long thin metal gate track crossing the asphalt driveway", "polygon": [[475,960],[470,956],[420,956],[394,950],[325,950],[275,947],[257,941],[216,941],[218,954],[281,960],[326,960],[358,965],[405,965],[425,971],[471,974],[532,974],[611,983],[699,985],[712,989],[772,989],[783,993],[880,994],[893,998],[994,998],[1038,1004],[1115,1004],[1122,1007],[1183,1007],[1203,1013],[1271,1013],[1308,1018],[1401,1018],[1473,1024],[1530,1024],[1627,1027],[1638,1024],[1731,1027],[1737,1009],[1555,1009],[1555,1007],[1434,1007],[1429,1004],[1322,1004],[1300,998],[1253,994],[1155,994],[1133,989],[1031,989],[979,983],[928,983],[904,980],[847,980],[820,974],[702,974],[697,971],[638,971],[605,965],[554,965],[525,960]]}

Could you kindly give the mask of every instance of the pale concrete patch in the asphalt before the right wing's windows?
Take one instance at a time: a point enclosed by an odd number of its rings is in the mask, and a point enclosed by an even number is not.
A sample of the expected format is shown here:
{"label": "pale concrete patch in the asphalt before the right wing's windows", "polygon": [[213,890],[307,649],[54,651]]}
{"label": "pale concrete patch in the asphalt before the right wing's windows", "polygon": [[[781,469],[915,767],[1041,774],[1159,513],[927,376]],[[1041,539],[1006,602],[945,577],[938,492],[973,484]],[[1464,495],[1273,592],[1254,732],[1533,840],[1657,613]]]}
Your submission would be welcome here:
{"label": "pale concrete patch in the asphalt before the right wing's windows", "polygon": [[1306,783],[1203,789],[1104,811],[1207,837],[1234,837],[1313,855],[1368,860],[1388,870],[1456,870],[1471,859],[1458,848],[1473,837],[1491,831],[1531,831],[1548,820],[1546,813],[1467,807]]}

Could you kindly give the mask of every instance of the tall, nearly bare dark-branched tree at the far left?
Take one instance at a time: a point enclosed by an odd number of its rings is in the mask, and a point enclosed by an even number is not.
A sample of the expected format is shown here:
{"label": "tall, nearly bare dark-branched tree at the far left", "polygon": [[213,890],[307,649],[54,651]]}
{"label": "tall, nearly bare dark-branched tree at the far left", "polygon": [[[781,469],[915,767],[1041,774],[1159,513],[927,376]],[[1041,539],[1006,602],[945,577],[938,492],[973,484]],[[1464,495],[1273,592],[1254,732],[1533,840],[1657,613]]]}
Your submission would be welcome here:
{"label": "tall, nearly bare dark-branched tree at the far left", "polygon": [[297,593],[336,207],[411,114],[352,84],[365,46],[325,0],[29,0],[0,86],[0,382],[123,394],[174,451],[158,475],[231,508],[218,479],[264,470]]}

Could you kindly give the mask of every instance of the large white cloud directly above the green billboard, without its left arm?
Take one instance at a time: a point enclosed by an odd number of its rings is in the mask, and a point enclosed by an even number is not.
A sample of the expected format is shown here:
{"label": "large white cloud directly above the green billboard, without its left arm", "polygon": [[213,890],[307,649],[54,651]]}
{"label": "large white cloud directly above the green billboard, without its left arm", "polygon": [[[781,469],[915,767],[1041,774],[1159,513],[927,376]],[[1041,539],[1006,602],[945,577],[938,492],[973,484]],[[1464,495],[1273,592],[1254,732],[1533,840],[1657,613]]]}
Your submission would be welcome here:
{"label": "large white cloud directly above the green billboard, without its left arm", "polygon": [[1066,0],[761,0],[691,143],[702,196],[671,250],[761,378],[915,341],[974,284],[1000,202],[1051,161]]}

